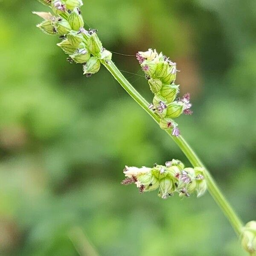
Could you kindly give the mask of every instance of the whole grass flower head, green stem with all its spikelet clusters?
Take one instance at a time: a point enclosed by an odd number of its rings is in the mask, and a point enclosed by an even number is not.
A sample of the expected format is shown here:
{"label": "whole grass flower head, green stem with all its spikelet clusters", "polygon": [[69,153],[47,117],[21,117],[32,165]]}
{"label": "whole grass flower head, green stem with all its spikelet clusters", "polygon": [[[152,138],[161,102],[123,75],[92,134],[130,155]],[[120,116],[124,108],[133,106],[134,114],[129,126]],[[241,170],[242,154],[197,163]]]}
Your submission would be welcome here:
{"label": "whole grass flower head, green stem with all its spikelet clusters", "polygon": [[177,97],[179,85],[175,84],[176,63],[172,62],[154,49],[138,52],[139,61],[154,99],[149,104],[134,87],[125,79],[111,60],[112,53],[102,46],[96,29],[84,29],[84,20],[80,7],[82,0],[39,0],[52,9],[49,12],[34,12],[43,18],[37,26],[49,35],[59,35],[57,45],[69,56],[67,61],[82,64],[87,77],[97,73],[103,64],[127,93],[172,137],[194,168],[184,168],[178,160],[166,162],[165,166],[155,165],[152,168],[125,167],[125,180],[122,184],[135,183],[140,193],[159,189],[161,198],[168,198],[175,192],[181,197],[188,197],[196,191],[204,194],[208,189],[216,203],[227,216],[238,236],[242,236],[242,245],[251,255],[256,253],[256,221],[250,221],[244,227],[224,195],[216,185],[209,171],[199,160],[192,148],[180,136],[177,123],[173,121],[182,113],[192,114],[189,93]]}

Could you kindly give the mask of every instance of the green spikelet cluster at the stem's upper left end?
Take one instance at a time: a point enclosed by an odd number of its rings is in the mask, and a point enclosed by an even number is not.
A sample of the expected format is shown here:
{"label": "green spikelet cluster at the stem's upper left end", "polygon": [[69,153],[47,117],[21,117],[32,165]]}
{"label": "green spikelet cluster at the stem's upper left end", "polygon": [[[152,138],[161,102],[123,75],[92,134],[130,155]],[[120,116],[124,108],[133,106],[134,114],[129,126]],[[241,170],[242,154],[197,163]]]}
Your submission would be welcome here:
{"label": "green spikelet cluster at the stem's upper left end", "polygon": [[57,45],[69,55],[67,61],[83,65],[84,75],[97,73],[101,63],[108,62],[112,53],[106,50],[97,35],[96,29],[84,29],[80,7],[81,0],[39,0],[49,6],[54,15],[48,12],[34,12],[44,20],[37,26],[49,35],[59,35]]}

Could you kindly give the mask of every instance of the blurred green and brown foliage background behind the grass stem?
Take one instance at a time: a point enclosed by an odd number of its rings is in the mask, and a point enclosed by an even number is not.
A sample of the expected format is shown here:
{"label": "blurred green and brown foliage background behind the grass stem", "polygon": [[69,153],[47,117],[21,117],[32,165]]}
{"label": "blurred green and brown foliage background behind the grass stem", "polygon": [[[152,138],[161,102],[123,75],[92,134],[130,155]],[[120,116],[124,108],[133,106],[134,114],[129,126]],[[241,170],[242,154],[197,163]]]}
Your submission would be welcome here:
{"label": "blurred green and brown foliage background behind the grass stem", "polygon": [[[256,219],[256,2],[84,2],[107,49],[177,62],[194,110],[183,136],[243,221]],[[77,256],[73,242],[103,256],[247,255],[209,193],[163,201],[120,185],[125,165],[189,163],[104,67],[87,79],[65,61],[35,27],[45,10],[0,0],[0,255]],[[141,74],[134,57],[113,60]],[[145,79],[124,75],[151,101]]]}

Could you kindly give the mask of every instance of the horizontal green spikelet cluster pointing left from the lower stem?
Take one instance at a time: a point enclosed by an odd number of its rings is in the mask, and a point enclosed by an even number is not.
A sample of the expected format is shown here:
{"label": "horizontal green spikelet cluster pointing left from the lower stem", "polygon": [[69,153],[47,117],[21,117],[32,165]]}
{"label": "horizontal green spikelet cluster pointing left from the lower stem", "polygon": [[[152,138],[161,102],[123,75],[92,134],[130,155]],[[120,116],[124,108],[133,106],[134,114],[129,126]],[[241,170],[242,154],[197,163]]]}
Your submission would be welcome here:
{"label": "horizontal green spikelet cluster pointing left from the lower stem", "polygon": [[207,189],[203,168],[184,168],[183,163],[175,159],[166,162],[165,166],[154,164],[152,168],[125,166],[124,174],[123,185],[135,183],[140,193],[158,189],[158,196],[163,199],[175,192],[182,198],[193,192],[200,197]]}

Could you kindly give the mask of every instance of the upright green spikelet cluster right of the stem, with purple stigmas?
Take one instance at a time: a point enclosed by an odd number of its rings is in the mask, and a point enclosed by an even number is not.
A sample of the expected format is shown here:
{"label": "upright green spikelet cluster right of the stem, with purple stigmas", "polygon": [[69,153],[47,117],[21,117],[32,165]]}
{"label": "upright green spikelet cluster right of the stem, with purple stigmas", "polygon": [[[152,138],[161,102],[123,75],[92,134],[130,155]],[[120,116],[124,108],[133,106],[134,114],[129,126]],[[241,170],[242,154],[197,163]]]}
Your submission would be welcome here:
{"label": "upright green spikelet cluster right of the stem, with purple stigmas", "polygon": [[152,93],[154,93],[153,103],[148,106],[160,117],[160,127],[162,129],[172,129],[172,135],[178,137],[180,131],[173,118],[184,114],[192,114],[190,95],[186,93],[181,99],[177,99],[179,85],[175,84],[176,63],[172,62],[154,49],[146,52],[138,52],[136,58],[145,73],[145,78]]}

